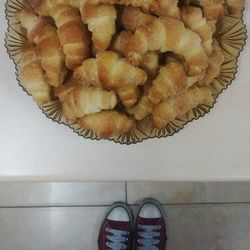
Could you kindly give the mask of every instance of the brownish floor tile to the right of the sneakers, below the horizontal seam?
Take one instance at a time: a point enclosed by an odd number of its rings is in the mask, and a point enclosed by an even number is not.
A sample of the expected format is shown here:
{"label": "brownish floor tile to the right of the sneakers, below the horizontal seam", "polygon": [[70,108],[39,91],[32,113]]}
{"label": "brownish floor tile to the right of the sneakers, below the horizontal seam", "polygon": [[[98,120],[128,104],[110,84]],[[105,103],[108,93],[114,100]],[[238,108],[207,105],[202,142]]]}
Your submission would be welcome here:
{"label": "brownish floor tile to the right of the sneakers, below the horizontal seam", "polygon": [[249,250],[250,204],[165,206],[167,250]]}

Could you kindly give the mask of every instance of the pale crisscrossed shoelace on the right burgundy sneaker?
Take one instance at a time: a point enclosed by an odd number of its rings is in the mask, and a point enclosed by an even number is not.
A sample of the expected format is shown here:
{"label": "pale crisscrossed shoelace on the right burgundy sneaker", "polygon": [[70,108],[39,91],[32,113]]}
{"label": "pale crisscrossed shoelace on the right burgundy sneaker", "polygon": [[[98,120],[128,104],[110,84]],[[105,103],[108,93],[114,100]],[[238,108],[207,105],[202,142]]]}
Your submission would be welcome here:
{"label": "pale crisscrossed shoelace on the right burgundy sneaker", "polygon": [[140,246],[137,250],[158,250],[156,246],[159,240],[155,239],[160,236],[160,225],[138,225],[142,231],[139,232],[138,243]]}

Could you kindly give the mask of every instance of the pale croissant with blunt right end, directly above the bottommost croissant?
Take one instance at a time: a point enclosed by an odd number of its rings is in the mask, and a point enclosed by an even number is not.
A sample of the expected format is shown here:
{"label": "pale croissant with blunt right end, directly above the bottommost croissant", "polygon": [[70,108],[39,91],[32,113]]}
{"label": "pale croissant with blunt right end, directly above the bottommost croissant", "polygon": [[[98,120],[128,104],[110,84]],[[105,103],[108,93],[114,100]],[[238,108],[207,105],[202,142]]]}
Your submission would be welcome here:
{"label": "pale croissant with blunt right end, directly above the bottommost croissant", "polygon": [[69,120],[85,115],[113,109],[117,104],[114,91],[96,87],[76,87],[69,92],[63,101],[63,113]]}

